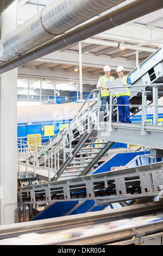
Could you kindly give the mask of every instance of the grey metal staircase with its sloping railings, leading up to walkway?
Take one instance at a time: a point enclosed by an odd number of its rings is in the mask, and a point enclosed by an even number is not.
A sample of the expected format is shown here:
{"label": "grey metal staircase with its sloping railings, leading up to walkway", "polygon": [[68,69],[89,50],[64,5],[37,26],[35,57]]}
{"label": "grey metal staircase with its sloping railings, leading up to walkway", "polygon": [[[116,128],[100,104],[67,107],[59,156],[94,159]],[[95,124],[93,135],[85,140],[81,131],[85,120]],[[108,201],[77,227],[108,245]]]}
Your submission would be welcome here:
{"label": "grey metal staircase with its sloping railings, leading up to walkway", "polygon": [[[85,104],[87,109],[82,112]],[[95,123],[99,117],[99,100],[92,102],[87,99],[84,105],[70,124],[37,150],[37,166],[45,165],[45,149],[53,155],[53,181],[87,174],[114,144],[97,139]],[[30,156],[29,163],[33,162],[34,157]]]}

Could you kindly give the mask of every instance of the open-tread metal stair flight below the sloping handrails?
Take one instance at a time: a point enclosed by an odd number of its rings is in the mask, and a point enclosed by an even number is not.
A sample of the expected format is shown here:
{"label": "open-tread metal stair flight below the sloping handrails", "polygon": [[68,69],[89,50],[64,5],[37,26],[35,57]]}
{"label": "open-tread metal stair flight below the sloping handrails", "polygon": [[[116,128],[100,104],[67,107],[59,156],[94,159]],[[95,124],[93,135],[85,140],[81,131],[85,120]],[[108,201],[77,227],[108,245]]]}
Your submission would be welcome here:
{"label": "open-tread metal stair flight below the sloping handrails", "polygon": [[97,161],[106,153],[113,143],[109,141],[99,142],[97,131],[86,132],[78,141],[72,154],[62,163],[54,180],[70,178],[70,176],[86,175]]}

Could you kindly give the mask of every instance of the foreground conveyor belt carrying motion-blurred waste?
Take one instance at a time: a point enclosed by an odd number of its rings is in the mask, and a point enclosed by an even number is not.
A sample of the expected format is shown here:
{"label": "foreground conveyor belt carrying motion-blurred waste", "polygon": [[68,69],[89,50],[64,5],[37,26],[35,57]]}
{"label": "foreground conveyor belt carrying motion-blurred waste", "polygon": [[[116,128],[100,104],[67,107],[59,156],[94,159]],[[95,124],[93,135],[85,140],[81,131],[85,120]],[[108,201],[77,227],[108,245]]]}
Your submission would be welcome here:
{"label": "foreground conveyor belt carrying motion-blurred waste", "polygon": [[163,230],[163,204],[153,202],[127,208],[3,225],[0,245],[108,245],[130,240],[143,243]]}

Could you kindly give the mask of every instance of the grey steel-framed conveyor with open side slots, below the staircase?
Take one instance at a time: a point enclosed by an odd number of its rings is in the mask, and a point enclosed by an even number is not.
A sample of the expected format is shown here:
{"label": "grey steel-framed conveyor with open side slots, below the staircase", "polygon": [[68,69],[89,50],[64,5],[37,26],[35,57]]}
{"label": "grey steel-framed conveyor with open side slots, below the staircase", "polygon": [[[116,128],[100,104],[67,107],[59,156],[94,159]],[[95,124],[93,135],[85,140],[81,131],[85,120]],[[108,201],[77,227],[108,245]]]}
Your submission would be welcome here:
{"label": "grey steel-framed conveyor with open side slots, below the staircase", "polygon": [[163,162],[18,188],[18,200],[52,203],[95,200],[95,204],[156,197],[163,186]]}

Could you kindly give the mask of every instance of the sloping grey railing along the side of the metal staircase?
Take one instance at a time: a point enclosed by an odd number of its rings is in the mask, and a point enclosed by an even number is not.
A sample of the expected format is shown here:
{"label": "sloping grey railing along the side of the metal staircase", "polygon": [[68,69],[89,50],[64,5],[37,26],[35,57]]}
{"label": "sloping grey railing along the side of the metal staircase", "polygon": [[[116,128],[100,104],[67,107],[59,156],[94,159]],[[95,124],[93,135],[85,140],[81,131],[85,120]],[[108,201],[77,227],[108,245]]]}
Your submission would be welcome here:
{"label": "sloping grey railing along the side of the metal staircase", "polygon": [[[87,110],[83,111],[86,103],[90,110],[90,117],[87,115]],[[45,161],[45,157],[43,157],[44,150],[51,151],[54,154],[54,158],[55,154],[58,155],[58,150],[60,148],[64,150],[64,153],[66,152],[67,154],[68,151],[70,151],[69,153],[71,154],[76,141],[78,141],[87,132],[87,130],[91,129],[92,125],[95,124],[95,121],[97,121],[97,101],[92,103],[90,106],[90,101],[88,99],[84,105],[79,109],[78,114],[70,124],[65,126],[64,129],[57,133],[57,135],[55,135],[47,143],[42,145],[39,150],[37,150],[37,159],[39,160],[39,165]],[[62,158],[62,156],[60,157]]]}

